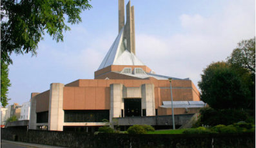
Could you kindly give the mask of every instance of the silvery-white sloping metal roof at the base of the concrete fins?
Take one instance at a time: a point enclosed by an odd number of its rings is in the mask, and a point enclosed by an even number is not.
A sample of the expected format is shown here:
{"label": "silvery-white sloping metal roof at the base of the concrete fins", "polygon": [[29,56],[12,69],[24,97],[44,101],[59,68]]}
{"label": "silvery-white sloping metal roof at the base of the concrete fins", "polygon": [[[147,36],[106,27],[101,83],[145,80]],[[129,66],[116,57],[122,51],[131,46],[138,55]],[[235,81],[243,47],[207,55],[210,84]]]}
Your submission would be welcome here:
{"label": "silvery-white sloping metal roof at the base of the concrete fins", "polygon": [[123,43],[123,29],[116,37],[114,43],[102,60],[98,70],[108,67],[110,65],[144,65],[133,53],[125,49]]}

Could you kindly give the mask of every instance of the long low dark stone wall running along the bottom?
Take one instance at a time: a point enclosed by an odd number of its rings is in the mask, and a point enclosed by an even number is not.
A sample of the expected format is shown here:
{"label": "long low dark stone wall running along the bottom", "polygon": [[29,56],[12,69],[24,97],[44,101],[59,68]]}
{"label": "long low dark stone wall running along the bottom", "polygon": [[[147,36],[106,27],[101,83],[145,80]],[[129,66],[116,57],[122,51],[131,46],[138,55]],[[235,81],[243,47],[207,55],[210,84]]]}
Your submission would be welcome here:
{"label": "long low dark stone wall running along the bottom", "polygon": [[2,139],[66,147],[162,148],[162,147],[254,147],[254,133],[196,135],[88,134],[2,129]]}

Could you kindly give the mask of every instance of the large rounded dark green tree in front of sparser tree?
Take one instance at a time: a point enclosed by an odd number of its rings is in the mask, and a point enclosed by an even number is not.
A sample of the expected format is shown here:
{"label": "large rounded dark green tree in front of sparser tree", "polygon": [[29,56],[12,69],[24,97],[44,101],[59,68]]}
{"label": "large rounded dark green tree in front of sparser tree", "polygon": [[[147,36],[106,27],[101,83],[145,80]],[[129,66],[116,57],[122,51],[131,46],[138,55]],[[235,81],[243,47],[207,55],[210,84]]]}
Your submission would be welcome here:
{"label": "large rounded dark green tree in front of sparser tree", "polygon": [[226,62],[210,64],[199,81],[201,99],[212,108],[247,108],[250,105],[251,74]]}

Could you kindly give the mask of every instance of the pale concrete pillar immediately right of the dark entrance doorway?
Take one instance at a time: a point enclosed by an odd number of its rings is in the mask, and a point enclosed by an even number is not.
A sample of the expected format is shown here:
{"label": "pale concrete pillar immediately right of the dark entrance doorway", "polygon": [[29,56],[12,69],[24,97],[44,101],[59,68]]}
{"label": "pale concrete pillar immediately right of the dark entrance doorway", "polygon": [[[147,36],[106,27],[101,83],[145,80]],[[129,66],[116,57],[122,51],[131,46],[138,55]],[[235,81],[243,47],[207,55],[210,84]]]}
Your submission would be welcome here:
{"label": "pale concrete pillar immediately right of the dark entrance doorway", "polygon": [[141,85],[141,108],[146,108],[146,115],[155,115],[154,84]]}

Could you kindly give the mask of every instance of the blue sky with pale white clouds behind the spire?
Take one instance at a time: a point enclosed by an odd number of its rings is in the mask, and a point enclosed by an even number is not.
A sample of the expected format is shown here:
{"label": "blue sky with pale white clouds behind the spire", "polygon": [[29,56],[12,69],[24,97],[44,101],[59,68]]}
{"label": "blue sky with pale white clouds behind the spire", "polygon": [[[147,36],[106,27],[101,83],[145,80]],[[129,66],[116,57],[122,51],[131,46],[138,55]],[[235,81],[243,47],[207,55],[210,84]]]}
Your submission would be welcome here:
{"label": "blue sky with pale white clouds behind the spire", "polygon": [[[81,23],[69,24],[64,42],[46,33],[37,56],[12,54],[10,105],[29,102],[32,92],[47,91],[51,83],[94,78],[118,35],[118,0],[90,4]],[[255,36],[254,0],[131,0],[131,5],[137,57],[157,74],[189,77],[195,85],[209,64],[226,60],[237,43]]]}

